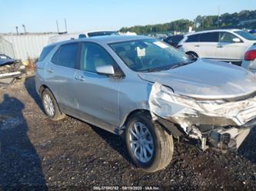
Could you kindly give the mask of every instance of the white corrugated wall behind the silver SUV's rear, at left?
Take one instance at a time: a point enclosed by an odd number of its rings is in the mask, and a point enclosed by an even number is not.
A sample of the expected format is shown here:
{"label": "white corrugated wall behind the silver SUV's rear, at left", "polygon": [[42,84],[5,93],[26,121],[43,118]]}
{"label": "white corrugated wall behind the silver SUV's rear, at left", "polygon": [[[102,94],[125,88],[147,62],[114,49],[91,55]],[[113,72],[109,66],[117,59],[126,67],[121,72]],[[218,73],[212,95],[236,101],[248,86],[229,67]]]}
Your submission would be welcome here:
{"label": "white corrugated wall behind the silver SUV's rear, at left", "polygon": [[28,35],[1,35],[6,41],[12,44],[15,58],[26,61],[28,58],[38,58],[42,48],[48,44],[48,38],[52,34],[28,34]]}

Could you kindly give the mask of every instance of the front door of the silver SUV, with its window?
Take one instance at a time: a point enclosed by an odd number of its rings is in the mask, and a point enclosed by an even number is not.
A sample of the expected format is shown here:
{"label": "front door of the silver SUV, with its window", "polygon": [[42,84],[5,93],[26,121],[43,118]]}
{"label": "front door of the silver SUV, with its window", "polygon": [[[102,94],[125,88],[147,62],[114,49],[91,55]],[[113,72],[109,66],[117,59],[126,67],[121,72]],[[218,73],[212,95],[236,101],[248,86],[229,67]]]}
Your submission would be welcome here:
{"label": "front door of the silver SUV, with its window", "polygon": [[118,95],[121,79],[97,74],[96,67],[116,63],[99,44],[81,43],[80,70],[75,73],[75,104],[78,117],[99,127],[119,124]]}

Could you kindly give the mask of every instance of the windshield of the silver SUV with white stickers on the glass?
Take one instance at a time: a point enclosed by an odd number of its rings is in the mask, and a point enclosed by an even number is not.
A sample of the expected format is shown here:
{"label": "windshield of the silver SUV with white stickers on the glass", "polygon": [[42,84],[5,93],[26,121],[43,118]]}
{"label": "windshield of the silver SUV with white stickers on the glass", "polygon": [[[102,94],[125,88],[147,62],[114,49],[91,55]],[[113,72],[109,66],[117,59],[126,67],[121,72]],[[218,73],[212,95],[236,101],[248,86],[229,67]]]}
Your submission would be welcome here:
{"label": "windshield of the silver SUV with white stickers on the glass", "polygon": [[195,61],[157,39],[118,42],[110,46],[133,71],[168,70]]}

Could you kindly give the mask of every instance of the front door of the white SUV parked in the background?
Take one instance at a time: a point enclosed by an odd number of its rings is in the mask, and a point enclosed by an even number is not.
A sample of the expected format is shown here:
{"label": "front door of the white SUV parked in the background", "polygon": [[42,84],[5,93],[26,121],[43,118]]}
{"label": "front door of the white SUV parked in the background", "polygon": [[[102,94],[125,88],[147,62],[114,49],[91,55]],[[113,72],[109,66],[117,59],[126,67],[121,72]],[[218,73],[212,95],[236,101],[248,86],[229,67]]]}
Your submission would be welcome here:
{"label": "front door of the white SUV parked in the background", "polygon": [[241,39],[240,42],[234,42],[234,38],[238,38],[238,36],[228,31],[220,32],[217,58],[223,61],[241,61],[248,47]]}

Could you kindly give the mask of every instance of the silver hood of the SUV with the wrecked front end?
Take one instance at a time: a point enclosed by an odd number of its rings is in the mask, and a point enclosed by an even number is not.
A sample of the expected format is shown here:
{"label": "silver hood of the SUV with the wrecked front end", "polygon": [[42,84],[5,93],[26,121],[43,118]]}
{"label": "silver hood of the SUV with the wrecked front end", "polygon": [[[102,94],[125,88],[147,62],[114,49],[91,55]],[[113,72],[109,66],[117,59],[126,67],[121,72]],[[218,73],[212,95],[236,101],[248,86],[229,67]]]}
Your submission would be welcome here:
{"label": "silver hood of the SUV with the wrecked front end", "polygon": [[256,91],[256,75],[233,64],[206,59],[168,71],[138,75],[145,81],[171,87],[175,94],[196,98],[240,97]]}

